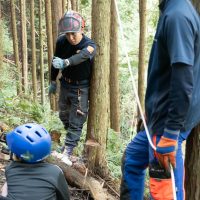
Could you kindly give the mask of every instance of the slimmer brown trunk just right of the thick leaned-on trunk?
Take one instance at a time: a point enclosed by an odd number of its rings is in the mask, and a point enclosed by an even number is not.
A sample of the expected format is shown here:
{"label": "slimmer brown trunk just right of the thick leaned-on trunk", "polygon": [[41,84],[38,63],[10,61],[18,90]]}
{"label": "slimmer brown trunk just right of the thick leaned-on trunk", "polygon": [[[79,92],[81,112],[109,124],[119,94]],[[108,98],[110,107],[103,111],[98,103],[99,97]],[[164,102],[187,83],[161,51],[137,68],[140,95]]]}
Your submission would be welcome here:
{"label": "slimmer brown trunk just right of the thick leaned-on trunk", "polygon": [[110,31],[110,126],[120,132],[118,33],[115,1],[111,0]]}

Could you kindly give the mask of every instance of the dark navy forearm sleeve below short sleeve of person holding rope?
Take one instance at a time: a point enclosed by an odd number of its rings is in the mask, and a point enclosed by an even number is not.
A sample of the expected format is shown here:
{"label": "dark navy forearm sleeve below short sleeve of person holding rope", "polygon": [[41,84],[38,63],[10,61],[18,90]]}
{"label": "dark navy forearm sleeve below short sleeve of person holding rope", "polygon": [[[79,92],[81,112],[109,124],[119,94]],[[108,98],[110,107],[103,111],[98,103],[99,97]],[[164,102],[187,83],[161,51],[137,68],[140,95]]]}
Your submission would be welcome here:
{"label": "dark navy forearm sleeve below short sleeve of person holding rope", "polygon": [[192,91],[193,67],[184,63],[173,64],[169,91],[170,104],[165,124],[167,130],[174,130],[179,133],[183,127],[190,106]]}

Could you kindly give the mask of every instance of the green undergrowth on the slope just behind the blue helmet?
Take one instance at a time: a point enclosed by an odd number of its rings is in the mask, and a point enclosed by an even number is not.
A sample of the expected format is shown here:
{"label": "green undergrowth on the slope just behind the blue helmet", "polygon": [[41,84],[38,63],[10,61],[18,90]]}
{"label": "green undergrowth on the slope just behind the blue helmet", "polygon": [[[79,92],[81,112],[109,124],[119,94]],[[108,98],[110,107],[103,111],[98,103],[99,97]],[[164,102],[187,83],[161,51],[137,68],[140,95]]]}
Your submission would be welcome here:
{"label": "green undergrowth on the slope just behind the blue helmet", "polygon": [[42,106],[32,102],[27,96],[7,97],[0,92],[0,121],[8,124],[11,128],[18,125],[35,122],[43,124],[47,130],[63,132],[63,125],[59,120],[58,113],[53,113],[48,104]]}

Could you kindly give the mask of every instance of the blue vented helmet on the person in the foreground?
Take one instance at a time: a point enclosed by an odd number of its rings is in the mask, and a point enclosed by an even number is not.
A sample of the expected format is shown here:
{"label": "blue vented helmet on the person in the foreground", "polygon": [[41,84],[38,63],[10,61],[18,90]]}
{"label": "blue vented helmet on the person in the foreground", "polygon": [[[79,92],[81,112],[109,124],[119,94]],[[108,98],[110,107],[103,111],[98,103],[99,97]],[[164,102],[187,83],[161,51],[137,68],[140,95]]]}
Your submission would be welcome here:
{"label": "blue vented helmet on the person in the foreground", "polygon": [[51,153],[51,137],[39,124],[28,123],[6,134],[8,148],[28,163],[43,160]]}

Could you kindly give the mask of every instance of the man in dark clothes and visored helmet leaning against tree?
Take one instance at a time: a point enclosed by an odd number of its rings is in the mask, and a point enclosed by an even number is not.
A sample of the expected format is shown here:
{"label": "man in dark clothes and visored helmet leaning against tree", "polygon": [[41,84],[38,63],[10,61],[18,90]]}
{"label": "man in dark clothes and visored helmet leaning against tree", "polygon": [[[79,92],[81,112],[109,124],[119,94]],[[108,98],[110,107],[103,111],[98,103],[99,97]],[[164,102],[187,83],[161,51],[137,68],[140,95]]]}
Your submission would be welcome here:
{"label": "man in dark clothes and visored helmet leaning against tree", "polygon": [[68,11],[59,21],[60,36],[51,67],[49,93],[56,92],[59,70],[59,117],[67,130],[62,148],[63,161],[71,165],[74,147],[80,140],[83,124],[88,114],[88,95],[96,44],[83,34],[85,21],[75,11]]}

